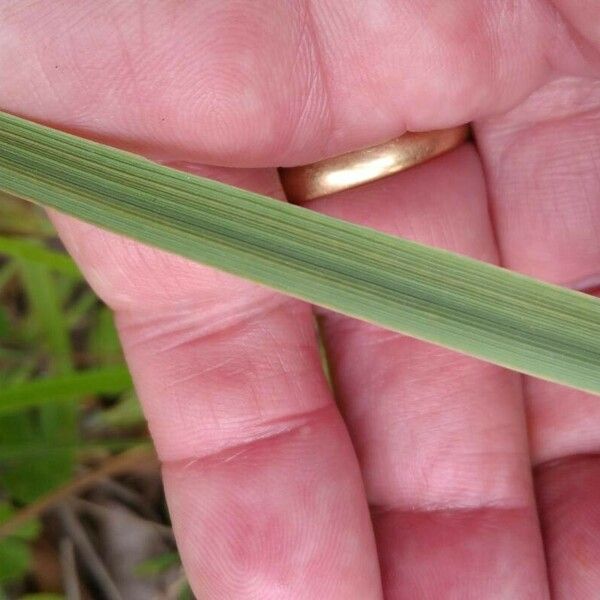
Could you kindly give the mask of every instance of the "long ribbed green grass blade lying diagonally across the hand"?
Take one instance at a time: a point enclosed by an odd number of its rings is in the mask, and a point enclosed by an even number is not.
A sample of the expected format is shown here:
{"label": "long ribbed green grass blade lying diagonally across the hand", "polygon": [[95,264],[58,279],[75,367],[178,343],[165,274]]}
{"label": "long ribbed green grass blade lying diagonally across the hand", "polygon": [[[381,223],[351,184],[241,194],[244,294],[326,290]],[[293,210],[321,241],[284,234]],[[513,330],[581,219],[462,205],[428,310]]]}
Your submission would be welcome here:
{"label": "long ribbed green grass blade lying diagonally across the hand", "polygon": [[0,187],[389,329],[600,393],[600,301],[0,114]]}

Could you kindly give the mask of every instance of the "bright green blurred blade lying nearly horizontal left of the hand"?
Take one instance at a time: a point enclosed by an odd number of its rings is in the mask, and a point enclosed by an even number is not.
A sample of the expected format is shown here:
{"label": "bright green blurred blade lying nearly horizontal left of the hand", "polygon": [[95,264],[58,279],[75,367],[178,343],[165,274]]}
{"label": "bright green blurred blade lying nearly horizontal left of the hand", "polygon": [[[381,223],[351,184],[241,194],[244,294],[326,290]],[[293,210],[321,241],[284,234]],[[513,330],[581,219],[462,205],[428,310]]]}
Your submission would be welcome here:
{"label": "bright green blurred blade lying nearly horizontal left of the hand", "polygon": [[77,371],[0,389],[0,414],[97,394],[118,394],[132,386],[124,365]]}

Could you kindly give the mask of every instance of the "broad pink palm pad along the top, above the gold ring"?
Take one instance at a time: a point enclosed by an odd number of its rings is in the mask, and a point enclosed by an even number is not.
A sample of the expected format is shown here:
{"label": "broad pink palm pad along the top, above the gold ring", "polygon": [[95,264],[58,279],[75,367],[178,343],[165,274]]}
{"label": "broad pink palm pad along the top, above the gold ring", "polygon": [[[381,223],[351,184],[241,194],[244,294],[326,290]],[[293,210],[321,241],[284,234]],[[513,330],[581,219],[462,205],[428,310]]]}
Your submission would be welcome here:
{"label": "broad pink palm pad along the top, above the gold ring", "polygon": [[163,160],[305,163],[581,69],[549,4],[5,0],[0,106]]}

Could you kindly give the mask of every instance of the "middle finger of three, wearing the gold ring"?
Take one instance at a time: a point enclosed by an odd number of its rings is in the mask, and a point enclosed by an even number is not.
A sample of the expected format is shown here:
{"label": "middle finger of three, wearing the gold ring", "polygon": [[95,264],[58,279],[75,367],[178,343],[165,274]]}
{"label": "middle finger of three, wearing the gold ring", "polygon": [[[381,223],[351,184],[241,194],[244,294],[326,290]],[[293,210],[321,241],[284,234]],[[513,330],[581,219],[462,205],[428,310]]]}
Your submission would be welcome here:
{"label": "middle finger of three, wearing the gold ring", "polygon": [[[470,145],[311,207],[497,259]],[[386,597],[546,597],[518,376],[340,315],[324,332]]]}

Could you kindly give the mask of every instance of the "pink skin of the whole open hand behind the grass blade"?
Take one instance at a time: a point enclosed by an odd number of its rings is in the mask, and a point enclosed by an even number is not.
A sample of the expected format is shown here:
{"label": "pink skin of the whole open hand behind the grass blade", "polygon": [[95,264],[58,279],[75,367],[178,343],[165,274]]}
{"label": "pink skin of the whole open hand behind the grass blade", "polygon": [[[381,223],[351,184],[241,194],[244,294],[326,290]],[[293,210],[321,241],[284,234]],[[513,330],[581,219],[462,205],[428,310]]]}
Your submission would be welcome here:
{"label": "pink skin of the whole open hand behind the grass blade", "polygon": [[[474,121],[309,208],[600,282],[597,0],[0,2],[0,107],[282,197],[277,165]],[[207,165],[220,165],[207,166]],[[595,597],[600,403],[64,216],[204,598]]]}

